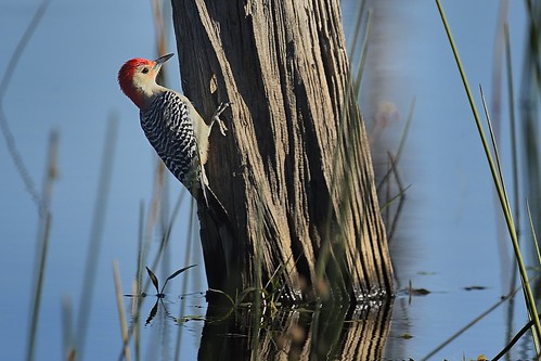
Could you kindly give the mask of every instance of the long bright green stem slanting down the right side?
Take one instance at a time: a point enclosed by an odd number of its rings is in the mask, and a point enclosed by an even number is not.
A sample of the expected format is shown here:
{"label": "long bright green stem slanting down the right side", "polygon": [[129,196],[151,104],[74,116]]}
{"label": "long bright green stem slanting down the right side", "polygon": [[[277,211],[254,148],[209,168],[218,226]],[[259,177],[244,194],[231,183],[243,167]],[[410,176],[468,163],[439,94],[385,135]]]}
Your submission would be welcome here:
{"label": "long bright green stem slanting down the right side", "polygon": [[536,345],[536,349],[537,349],[538,354],[539,354],[539,345],[538,345],[538,343],[541,339],[540,338],[540,336],[541,336],[541,323],[539,321],[539,318],[537,317],[538,312],[537,312],[537,307],[536,307],[536,299],[533,298],[533,294],[531,292],[531,287],[529,286],[528,273],[526,272],[526,267],[524,265],[523,256],[520,254],[520,248],[519,248],[519,245],[518,245],[518,237],[517,237],[516,229],[515,229],[515,225],[514,225],[514,222],[513,222],[513,216],[511,214],[508,201],[505,197],[505,193],[504,193],[503,185],[502,185],[502,182],[501,182],[500,177],[499,177],[499,172],[497,170],[494,160],[492,158],[491,151],[490,151],[490,147],[488,145],[487,138],[485,137],[485,132],[482,130],[482,125],[481,125],[481,121],[480,121],[480,117],[479,117],[479,114],[477,112],[477,107],[475,105],[474,98],[472,95],[472,91],[469,89],[469,86],[468,86],[468,82],[467,82],[467,78],[466,78],[464,68],[462,66],[461,59],[459,56],[459,51],[458,51],[458,49],[455,47],[452,34],[451,34],[451,29],[450,29],[449,24],[447,22],[443,9],[442,9],[441,3],[440,3],[439,0],[436,0],[436,4],[438,7],[438,11],[439,11],[439,14],[441,16],[441,21],[442,21],[443,26],[446,28],[446,33],[447,33],[449,42],[451,44],[451,49],[453,51],[453,55],[454,55],[454,59],[456,61],[456,65],[459,67],[459,72],[460,72],[460,75],[461,75],[461,78],[462,78],[462,82],[464,85],[464,89],[465,89],[466,94],[467,94],[469,106],[472,107],[472,112],[473,112],[473,115],[474,115],[474,118],[475,118],[477,130],[479,132],[479,137],[480,137],[481,142],[482,142],[482,147],[484,147],[485,154],[487,156],[487,162],[488,162],[489,167],[490,167],[490,172],[492,175],[492,180],[494,182],[494,185],[495,185],[495,189],[497,189],[497,192],[498,192],[498,197],[500,199],[500,204],[501,204],[503,214],[505,216],[505,222],[507,224],[507,230],[510,232],[511,241],[512,241],[512,244],[513,244],[513,249],[515,252],[515,257],[516,257],[516,260],[518,262],[518,270],[519,270],[519,273],[520,273],[520,280],[521,280],[521,283],[523,283],[523,291],[524,291],[524,295],[525,295],[525,298],[526,298],[526,306],[527,306],[527,308],[529,310],[529,318],[530,318],[530,320],[534,320],[534,324],[533,324],[533,331],[534,331],[533,335],[534,335],[534,339],[536,339],[534,345]]}

